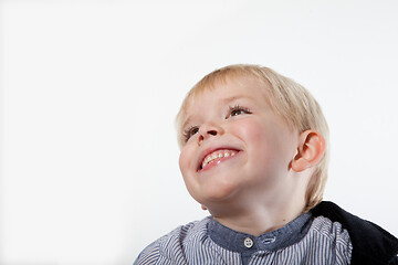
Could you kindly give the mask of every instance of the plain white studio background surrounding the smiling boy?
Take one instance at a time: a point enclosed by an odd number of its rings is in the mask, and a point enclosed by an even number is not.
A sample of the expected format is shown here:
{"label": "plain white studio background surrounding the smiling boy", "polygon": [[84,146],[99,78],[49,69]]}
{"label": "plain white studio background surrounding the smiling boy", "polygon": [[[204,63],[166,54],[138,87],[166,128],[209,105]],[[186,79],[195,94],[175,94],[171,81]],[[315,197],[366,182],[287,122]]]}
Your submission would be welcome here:
{"label": "plain white studio background surrounding the smiling boy", "polygon": [[325,198],[398,235],[398,2],[189,2],[2,1],[0,264],[132,264],[207,215],[174,118],[232,63],[314,94],[332,136]]}

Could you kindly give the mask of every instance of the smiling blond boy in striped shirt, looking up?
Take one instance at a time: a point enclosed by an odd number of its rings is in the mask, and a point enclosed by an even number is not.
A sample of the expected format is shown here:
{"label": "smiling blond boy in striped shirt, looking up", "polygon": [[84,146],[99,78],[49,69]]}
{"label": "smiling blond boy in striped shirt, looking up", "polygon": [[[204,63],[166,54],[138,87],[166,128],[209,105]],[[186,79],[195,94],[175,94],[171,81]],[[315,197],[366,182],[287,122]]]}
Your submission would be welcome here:
{"label": "smiling blond boy in striped shirt, looking up", "polygon": [[177,116],[179,166],[211,216],[147,246],[135,264],[398,264],[398,241],[322,202],[328,128],[310,93],[268,67],[205,76]]}

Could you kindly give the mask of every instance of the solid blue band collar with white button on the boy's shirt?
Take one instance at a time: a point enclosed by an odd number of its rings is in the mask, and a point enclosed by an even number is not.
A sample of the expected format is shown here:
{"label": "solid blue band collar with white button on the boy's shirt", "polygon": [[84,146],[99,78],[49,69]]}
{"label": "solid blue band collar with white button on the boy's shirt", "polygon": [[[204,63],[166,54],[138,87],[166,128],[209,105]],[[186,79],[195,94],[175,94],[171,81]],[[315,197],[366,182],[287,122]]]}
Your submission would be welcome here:
{"label": "solid blue band collar with white button on the boy's shirt", "polygon": [[279,230],[254,236],[231,230],[211,219],[208,231],[210,239],[223,248],[249,254],[256,251],[276,251],[295,244],[308,232],[311,223],[312,214],[303,213]]}

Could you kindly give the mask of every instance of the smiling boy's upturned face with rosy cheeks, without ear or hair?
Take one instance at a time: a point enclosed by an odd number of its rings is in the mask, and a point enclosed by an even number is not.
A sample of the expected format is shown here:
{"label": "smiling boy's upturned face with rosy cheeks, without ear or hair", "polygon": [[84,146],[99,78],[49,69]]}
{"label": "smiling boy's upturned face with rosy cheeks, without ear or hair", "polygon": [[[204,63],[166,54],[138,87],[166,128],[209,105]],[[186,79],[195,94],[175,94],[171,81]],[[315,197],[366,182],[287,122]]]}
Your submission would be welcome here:
{"label": "smiling boy's upturned face with rosy cheeks, without ear or hair", "polygon": [[187,107],[179,166],[189,193],[210,211],[291,183],[298,134],[273,113],[263,86],[253,77],[229,78]]}

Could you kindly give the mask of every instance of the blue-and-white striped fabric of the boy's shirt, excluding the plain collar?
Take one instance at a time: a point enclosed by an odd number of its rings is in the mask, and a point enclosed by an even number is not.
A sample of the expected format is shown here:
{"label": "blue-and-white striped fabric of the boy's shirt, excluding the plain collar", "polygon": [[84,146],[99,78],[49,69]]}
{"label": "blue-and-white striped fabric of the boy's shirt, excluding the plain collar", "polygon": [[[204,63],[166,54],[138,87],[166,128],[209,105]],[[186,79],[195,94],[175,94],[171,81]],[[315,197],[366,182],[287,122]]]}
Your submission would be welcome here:
{"label": "blue-and-white striped fabric of the boy's shirt, excluding the plain collar", "polygon": [[[134,265],[153,264],[349,264],[352,243],[337,222],[318,216],[298,242],[277,250],[259,250],[242,259],[242,253],[217,244],[209,235],[211,218],[174,230],[147,246]],[[235,232],[239,233],[239,232]],[[255,240],[255,239],[254,239]]]}

